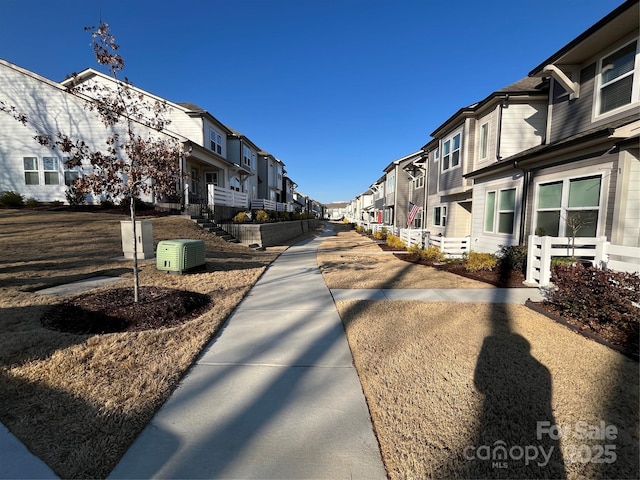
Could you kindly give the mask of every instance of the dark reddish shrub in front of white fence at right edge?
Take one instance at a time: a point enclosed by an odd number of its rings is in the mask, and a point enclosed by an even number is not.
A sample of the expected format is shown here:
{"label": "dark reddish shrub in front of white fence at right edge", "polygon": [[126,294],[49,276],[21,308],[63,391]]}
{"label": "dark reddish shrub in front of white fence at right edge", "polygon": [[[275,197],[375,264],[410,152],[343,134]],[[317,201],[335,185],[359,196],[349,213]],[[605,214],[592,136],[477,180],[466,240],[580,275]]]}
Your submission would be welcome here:
{"label": "dark reddish shrub in front of white fence at right edge", "polygon": [[637,331],[640,274],[558,264],[551,281],[554,287],[546,292],[545,303],[555,305],[563,316]]}

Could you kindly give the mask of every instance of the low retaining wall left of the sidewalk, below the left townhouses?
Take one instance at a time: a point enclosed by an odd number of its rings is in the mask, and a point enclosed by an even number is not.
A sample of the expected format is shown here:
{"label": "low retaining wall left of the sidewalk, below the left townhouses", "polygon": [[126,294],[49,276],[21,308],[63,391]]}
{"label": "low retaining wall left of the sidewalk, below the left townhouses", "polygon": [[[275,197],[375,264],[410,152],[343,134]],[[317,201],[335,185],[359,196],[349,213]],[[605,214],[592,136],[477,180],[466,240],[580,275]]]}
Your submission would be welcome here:
{"label": "low retaining wall left of the sidewalk, below the left townhouses", "polygon": [[288,222],[220,223],[218,225],[244,245],[272,247],[303,233],[313,231],[319,224],[320,220],[312,218]]}

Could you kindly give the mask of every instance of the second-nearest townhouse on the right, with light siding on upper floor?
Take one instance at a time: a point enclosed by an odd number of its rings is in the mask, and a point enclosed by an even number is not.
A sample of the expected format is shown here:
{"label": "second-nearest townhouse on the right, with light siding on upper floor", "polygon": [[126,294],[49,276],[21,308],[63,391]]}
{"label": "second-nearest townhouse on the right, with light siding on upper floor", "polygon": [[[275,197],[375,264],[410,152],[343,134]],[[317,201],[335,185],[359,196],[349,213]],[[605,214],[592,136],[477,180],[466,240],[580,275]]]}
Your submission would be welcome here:
{"label": "second-nearest townhouse on the right, with light siding on upper floor", "polygon": [[[540,145],[547,108],[546,83],[525,78],[458,110],[432,133],[423,147],[428,156],[427,227],[432,234],[464,237],[471,233],[475,186],[468,174]],[[473,205],[473,209],[472,209]],[[514,227],[496,230],[498,242]],[[478,245],[472,243],[472,249]]]}

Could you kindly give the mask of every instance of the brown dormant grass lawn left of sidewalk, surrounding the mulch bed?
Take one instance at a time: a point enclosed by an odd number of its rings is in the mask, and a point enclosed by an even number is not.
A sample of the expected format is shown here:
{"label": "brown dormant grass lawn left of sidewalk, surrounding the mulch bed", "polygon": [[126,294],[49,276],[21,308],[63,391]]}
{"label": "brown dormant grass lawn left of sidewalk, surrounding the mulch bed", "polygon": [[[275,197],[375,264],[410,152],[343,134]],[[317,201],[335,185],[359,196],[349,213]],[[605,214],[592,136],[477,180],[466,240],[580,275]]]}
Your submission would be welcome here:
{"label": "brown dormant grass lawn left of sidewalk, surrounding the mulch bed", "polygon": [[[64,478],[115,466],[232,309],[276,256],[226,243],[183,218],[154,218],[154,240],[205,240],[207,271],[168,275],[141,261],[141,285],[191,290],[212,307],[179,327],[72,335],[40,325],[62,299],[33,290],[122,276],[120,220],[100,213],[0,210],[0,421]],[[115,260],[114,260],[115,259]],[[111,287],[115,288],[115,287]],[[131,288],[133,295],[133,288]]]}

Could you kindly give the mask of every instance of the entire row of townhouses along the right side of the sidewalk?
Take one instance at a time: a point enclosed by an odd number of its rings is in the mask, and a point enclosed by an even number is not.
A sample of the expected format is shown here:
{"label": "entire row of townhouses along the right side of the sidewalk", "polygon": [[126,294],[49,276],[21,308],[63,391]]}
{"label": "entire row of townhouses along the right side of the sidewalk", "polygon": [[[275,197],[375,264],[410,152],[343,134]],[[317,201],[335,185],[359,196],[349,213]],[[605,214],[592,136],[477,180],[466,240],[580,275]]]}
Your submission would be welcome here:
{"label": "entire row of townhouses along the right side of the sidewalk", "polygon": [[531,234],[640,246],[638,1],[528,76],[446,119],[352,199],[348,218],[468,237],[494,253]]}

